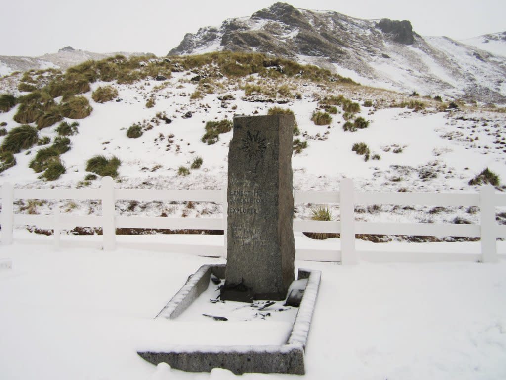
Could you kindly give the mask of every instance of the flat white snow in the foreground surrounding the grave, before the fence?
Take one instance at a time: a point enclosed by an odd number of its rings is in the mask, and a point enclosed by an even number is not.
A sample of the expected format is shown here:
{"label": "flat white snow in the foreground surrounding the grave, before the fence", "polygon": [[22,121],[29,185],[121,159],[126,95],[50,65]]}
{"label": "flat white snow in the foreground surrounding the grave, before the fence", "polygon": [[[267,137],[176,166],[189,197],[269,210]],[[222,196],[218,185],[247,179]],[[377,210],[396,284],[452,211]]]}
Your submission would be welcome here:
{"label": "flat white snow in the foreground surrounding the grave, before the fence", "polygon": [[[166,365],[157,368],[136,354],[150,344],[198,340],[199,335],[205,340],[206,331],[224,328],[228,322],[209,318],[190,317],[184,329],[174,328],[178,320],[153,319],[188,275],[201,264],[223,259],[125,248],[54,251],[44,244],[47,237],[38,240],[36,245],[0,247],[0,263],[7,258],[12,263],[12,269],[0,267],[3,380],[301,378],[234,376],[219,369],[186,373]],[[397,244],[389,245],[395,249]],[[493,264],[352,266],[296,261],[296,268],[301,267],[322,271],[303,378],[506,378],[503,259]],[[255,328],[261,335],[262,322],[268,334],[268,321],[254,321]],[[188,330],[194,334],[187,336]],[[232,331],[240,329],[232,326]],[[225,334],[207,344],[234,338]]]}

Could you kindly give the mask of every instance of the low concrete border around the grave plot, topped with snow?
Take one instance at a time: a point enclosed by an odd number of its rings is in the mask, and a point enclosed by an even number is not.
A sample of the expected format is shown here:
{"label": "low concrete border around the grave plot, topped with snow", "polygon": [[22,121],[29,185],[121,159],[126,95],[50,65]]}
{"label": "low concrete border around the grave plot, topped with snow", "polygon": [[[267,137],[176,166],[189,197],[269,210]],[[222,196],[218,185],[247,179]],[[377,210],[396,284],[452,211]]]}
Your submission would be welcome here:
{"label": "low concrete border around the grave plot, topped with snow", "polygon": [[[202,265],[155,318],[178,317],[207,289],[211,274],[224,278],[225,264]],[[304,374],[304,350],[320,286],[321,272],[299,269],[298,279],[305,278],[308,279],[308,283],[304,296],[290,336],[284,345],[177,345],[165,352],[143,351],[138,354],[152,364],[165,362],[173,368],[189,372],[209,372],[213,368],[225,368],[235,374],[245,372]]]}

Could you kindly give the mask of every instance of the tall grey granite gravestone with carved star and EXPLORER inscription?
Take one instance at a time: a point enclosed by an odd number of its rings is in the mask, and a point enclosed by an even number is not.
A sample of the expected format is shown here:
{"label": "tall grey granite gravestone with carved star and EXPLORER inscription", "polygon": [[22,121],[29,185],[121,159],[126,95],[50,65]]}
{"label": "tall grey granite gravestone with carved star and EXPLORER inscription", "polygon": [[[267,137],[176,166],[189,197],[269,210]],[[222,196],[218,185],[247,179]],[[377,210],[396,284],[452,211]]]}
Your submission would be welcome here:
{"label": "tall grey granite gravestone with carved star and EXPLORER inscription", "polygon": [[221,299],[281,300],[294,279],[292,115],[234,118]]}

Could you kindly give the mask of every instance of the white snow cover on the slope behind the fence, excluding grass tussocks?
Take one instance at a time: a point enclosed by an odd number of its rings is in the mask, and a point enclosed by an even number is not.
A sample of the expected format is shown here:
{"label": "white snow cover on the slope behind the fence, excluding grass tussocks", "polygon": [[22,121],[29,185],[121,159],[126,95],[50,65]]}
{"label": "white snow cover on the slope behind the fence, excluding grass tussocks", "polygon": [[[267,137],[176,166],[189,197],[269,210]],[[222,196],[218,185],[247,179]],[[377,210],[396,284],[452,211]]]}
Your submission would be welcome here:
{"label": "white snow cover on the slope behind the fence, excluding grass tussocks", "polygon": [[[479,108],[460,109],[451,112],[438,111],[439,103],[422,97],[403,97],[393,92],[371,89],[364,86],[321,87],[301,79],[266,83],[257,75],[241,81],[227,78],[220,82],[221,94],[204,94],[202,99],[190,99],[199,89],[190,81],[194,73],[174,73],[173,78],[163,83],[145,80],[134,85],[113,84],[118,90],[119,102],[96,103],[91,92],[85,94],[93,106],[92,114],[78,120],[79,133],[70,136],[71,149],[61,156],[66,173],[58,180],[45,182],[38,179],[28,167],[37,151],[45,146],[34,146],[15,155],[17,165],[0,173],[0,182],[10,181],[18,187],[76,187],[81,186],[87,174],[86,161],[94,155],[117,156],[122,165],[116,187],[171,188],[171,189],[219,189],[226,184],[228,143],[232,131],[221,134],[214,145],[200,141],[205,122],[222,119],[231,120],[234,115],[266,115],[275,104],[251,102],[244,99],[244,83],[259,83],[262,86],[292,88],[301,92],[301,99],[288,99],[282,104],[296,116],[301,135],[295,136],[308,142],[301,154],[294,154],[292,168],[293,185],[296,190],[338,190],[342,178],[353,178],[355,188],[365,192],[435,192],[476,193],[480,186],[468,182],[483,169],[489,168],[506,180],[506,114]],[[161,84],[161,87],[160,87]],[[104,83],[94,83],[95,90]],[[201,89],[201,88],[200,88]],[[235,99],[225,104],[218,99],[224,93]],[[361,116],[369,126],[356,132],[343,130],[344,112],[332,115],[328,126],[317,126],[311,115],[318,110],[317,98],[344,94],[361,104]],[[146,108],[146,100],[153,97],[155,105]],[[279,99],[281,100],[281,99]],[[369,100],[372,106],[365,107]],[[414,111],[408,108],[390,108],[392,103],[421,101],[427,109]],[[223,107],[226,106],[226,108]],[[187,112],[191,118],[184,119]],[[0,113],[0,122],[6,122],[7,130],[18,123],[13,121],[16,108]],[[172,123],[166,124],[155,117],[164,112]],[[72,122],[72,120],[67,120]],[[134,123],[150,126],[139,138],[128,138],[126,130]],[[39,131],[40,137],[57,136],[56,127]],[[152,128],[151,128],[152,127]],[[0,137],[0,142],[5,137]],[[379,160],[364,162],[364,156],[352,151],[355,143],[366,143]],[[201,157],[200,169],[190,175],[178,175],[180,166],[189,166],[195,157]],[[99,180],[89,186],[100,185]],[[26,211],[26,201],[16,204],[17,212]],[[219,215],[221,208],[213,204],[195,204],[186,208],[184,204],[123,202],[117,204],[119,214],[160,216],[209,216]],[[37,205],[35,212],[50,213],[52,203]],[[98,213],[90,202],[62,202],[68,213]],[[299,218],[311,215],[311,205],[300,205],[296,209]],[[24,211],[23,211],[24,210]],[[32,210],[33,211],[33,210]],[[333,217],[339,215],[337,206],[331,206]],[[363,211],[363,212],[362,212]],[[434,212],[431,212],[434,211]],[[479,214],[473,208],[417,208],[416,210],[379,207],[374,210],[359,209],[361,220],[391,220],[401,218],[411,222],[452,222],[455,218],[476,223]],[[504,211],[498,209],[500,215]],[[218,216],[217,215],[217,216]],[[501,219],[501,220],[502,220]],[[499,221],[504,222],[504,221]]]}

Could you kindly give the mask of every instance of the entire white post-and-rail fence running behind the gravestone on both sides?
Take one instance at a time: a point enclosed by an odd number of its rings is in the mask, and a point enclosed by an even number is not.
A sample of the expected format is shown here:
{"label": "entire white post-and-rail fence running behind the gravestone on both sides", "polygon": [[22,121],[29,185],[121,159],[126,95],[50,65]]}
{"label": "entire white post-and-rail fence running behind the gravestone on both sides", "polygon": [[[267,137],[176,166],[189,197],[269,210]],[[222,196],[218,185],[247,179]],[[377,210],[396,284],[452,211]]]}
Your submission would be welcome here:
{"label": "entire white post-and-rail fence running behind the gravestone on both sides", "polygon": [[[199,246],[199,253],[209,256],[226,257],[227,250],[227,202],[226,189],[222,190],[159,190],[159,189],[123,189],[114,188],[110,177],[102,179],[101,187],[88,189],[32,189],[14,188],[11,183],[2,186],[2,243],[13,241],[14,225],[33,224],[39,228],[54,231],[55,246],[59,246],[60,230],[76,226],[102,227],[102,246],[104,250],[116,247],[116,228],[131,227],[143,229],[192,229],[224,230],[223,246]],[[52,215],[27,215],[14,213],[15,199],[45,200],[100,200],[102,215],[66,215],[60,213],[58,203]],[[115,201],[193,201],[216,202],[223,204],[223,217],[189,218],[189,217],[139,217],[116,216]],[[506,225],[495,221],[495,207],[506,206],[506,194],[496,194],[490,185],[483,186],[479,194],[430,194],[430,193],[360,193],[353,189],[351,179],[343,179],[339,192],[294,192],[295,203],[339,204],[340,220],[315,221],[293,220],[293,230],[297,232],[321,232],[341,234],[341,249],[330,250],[297,249],[297,258],[321,261],[341,261],[343,264],[358,262],[359,258],[368,260],[388,260],[412,257],[419,259],[425,255],[430,259],[463,259],[497,261],[496,238],[506,237]],[[479,224],[449,223],[384,223],[355,221],[355,204],[367,205],[437,205],[437,206],[478,206],[480,208]],[[452,254],[429,252],[372,252],[357,251],[355,234],[384,235],[419,235],[419,236],[458,236],[480,237],[481,254]],[[195,251],[194,246],[166,246],[179,251]],[[417,257],[418,256],[418,257]]]}

